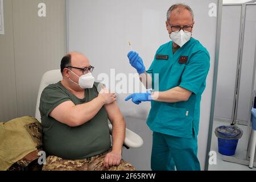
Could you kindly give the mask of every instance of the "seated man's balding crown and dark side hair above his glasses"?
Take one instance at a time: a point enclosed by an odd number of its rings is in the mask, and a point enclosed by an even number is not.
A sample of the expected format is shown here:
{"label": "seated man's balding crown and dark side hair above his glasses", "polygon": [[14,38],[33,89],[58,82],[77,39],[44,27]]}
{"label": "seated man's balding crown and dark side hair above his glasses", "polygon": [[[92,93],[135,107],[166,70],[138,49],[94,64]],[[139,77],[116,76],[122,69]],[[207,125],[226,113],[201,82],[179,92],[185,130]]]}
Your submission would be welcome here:
{"label": "seated man's balding crown and dark side hair above his glasses", "polygon": [[63,74],[64,68],[68,66],[77,67],[77,68],[85,68],[89,67],[90,63],[88,58],[82,53],[79,52],[69,52],[67,55],[63,57],[60,64],[60,70]]}

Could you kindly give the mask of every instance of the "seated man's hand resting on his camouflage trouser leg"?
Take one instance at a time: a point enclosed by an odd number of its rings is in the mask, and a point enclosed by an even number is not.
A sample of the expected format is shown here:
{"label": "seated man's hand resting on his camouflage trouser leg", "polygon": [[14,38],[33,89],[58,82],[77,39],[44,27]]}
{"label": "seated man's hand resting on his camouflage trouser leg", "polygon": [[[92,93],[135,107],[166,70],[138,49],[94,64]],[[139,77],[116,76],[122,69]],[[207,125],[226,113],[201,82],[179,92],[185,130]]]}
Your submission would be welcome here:
{"label": "seated man's hand resting on his camouflage trouser leg", "polygon": [[121,159],[121,152],[111,151],[108,154],[106,154],[104,158],[104,167],[109,168],[111,166],[118,166],[121,162]]}

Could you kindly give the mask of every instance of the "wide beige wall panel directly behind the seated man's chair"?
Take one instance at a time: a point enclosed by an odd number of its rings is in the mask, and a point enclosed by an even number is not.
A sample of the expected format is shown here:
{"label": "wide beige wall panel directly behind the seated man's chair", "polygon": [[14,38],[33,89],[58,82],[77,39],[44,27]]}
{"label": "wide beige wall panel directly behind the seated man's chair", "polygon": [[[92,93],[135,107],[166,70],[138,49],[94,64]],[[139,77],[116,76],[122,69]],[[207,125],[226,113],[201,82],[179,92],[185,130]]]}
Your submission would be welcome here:
{"label": "wide beige wall panel directly behind the seated man's chair", "polygon": [[[46,4],[46,17],[38,4]],[[13,0],[18,116],[35,115],[43,73],[59,69],[65,46],[64,0]]]}

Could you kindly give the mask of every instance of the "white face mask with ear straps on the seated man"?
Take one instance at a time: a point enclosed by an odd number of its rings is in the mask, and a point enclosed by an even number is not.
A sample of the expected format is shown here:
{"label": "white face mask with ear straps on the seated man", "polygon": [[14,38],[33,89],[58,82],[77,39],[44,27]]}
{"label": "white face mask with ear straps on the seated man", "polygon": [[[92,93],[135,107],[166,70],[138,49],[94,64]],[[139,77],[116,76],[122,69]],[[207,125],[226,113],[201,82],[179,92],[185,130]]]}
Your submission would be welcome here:
{"label": "white face mask with ear straps on the seated man", "polygon": [[[70,69],[68,69],[69,71],[71,71]],[[71,71],[72,72],[72,71]],[[76,73],[72,72],[74,75],[76,75]],[[76,75],[77,76],[77,75]],[[79,77],[79,76],[77,76]],[[69,80],[71,80],[71,78],[69,78]],[[79,84],[77,84],[75,81],[71,80],[74,84],[79,85],[82,89],[90,89],[93,88],[93,84],[94,84],[94,77],[92,76],[92,73],[86,73],[85,75],[82,75],[79,77]]]}

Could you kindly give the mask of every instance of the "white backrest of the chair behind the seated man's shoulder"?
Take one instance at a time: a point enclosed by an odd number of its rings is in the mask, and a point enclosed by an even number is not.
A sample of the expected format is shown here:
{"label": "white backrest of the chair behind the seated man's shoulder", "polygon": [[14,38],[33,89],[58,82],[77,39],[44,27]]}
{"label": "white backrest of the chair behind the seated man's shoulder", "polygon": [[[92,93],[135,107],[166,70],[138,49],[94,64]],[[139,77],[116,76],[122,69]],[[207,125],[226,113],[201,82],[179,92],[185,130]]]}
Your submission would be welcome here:
{"label": "white backrest of the chair behind the seated man's shoulder", "polygon": [[62,75],[61,75],[60,69],[55,69],[55,70],[51,70],[44,73],[39,86],[38,100],[36,101],[35,118],[38,119],[39,122],[41,122],[41,115],[39,111],[40,97],[44,88],[46,88],[46,86],[50,84],[55,84],[56,82],[61,80],[62,80]]}

